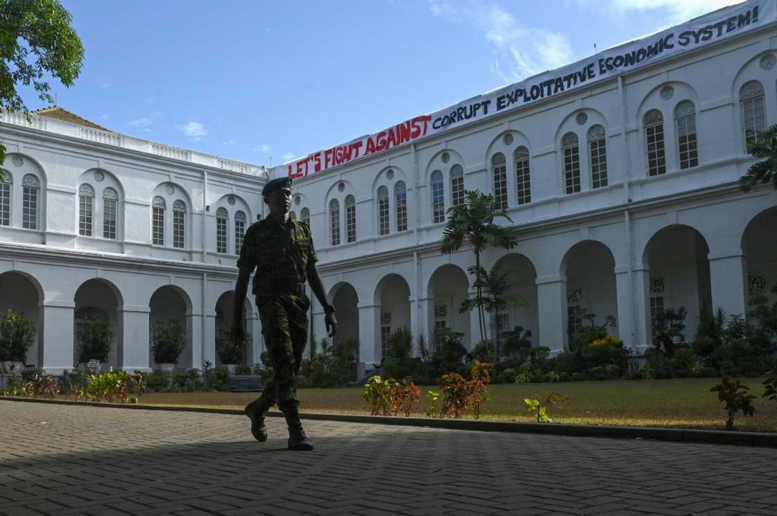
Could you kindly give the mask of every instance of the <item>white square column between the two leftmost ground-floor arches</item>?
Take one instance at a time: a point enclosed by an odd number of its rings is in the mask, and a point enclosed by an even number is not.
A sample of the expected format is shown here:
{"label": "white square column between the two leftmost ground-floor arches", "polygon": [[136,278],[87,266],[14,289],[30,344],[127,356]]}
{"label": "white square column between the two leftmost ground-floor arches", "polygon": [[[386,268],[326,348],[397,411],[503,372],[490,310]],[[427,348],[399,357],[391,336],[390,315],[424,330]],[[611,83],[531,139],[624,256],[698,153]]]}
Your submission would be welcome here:
{"label": "white square column between the two leftmost ground-floor arches", "polygon": [[75,361],[75,302],[44,300],[39,310],[43,310],[43,368],[60,375],[73,369]]}

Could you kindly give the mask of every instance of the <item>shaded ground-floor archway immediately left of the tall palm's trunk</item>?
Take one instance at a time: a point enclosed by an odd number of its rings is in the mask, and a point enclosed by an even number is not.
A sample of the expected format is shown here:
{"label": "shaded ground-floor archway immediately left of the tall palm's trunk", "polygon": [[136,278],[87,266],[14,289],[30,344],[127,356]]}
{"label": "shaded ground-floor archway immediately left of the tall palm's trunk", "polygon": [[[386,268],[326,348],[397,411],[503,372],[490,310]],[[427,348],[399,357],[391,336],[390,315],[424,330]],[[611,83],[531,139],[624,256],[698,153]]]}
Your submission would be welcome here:
{"label": "shaded ground-floor archway immediately left of the tall palm's trunk", "polygon": [[473,338],[469,326],[469,313],[459,313],[462,301],[467,299],[469,281],[467,275],[458,265],[445,264],[437,268],[429,279],[427,297],[429,306],[429,327],[427,334],[430,341],[427,345],[437,347],[434,338],[437,330],[448,328],[451,331],[464,334],[462,344],[466,348],[472,348]]}

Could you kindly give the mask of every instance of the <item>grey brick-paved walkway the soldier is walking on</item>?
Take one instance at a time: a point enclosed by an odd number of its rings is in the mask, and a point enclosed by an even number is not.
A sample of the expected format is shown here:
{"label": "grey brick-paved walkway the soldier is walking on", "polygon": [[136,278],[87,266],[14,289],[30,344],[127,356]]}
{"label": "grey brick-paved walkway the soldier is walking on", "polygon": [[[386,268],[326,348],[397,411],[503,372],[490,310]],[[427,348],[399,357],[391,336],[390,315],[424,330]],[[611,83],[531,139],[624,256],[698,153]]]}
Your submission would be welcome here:
{"label": "grey brick-paved walkway the soldier is walking on", "polygon": [[777,450],[0,401],[0,514],[777,514]]}

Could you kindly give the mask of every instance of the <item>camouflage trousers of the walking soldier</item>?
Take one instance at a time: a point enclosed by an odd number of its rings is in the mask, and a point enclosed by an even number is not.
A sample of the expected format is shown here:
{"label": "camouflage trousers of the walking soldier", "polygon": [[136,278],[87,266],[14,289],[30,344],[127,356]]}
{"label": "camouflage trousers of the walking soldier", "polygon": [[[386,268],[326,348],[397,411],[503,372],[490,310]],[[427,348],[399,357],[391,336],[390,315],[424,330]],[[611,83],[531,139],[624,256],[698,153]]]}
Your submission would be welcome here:
{"label": "camouflage trousers of the walking soldier", "polygon": [[294,376],[302,362],[302,352],[308,341],[308,309],[310,300],[302,294],[256,296],[256,307],[262,321],[264,345],[273,364],[273,375],[265,382],[256,407],[262,413],[275,403],[280,410],[299,405]]}

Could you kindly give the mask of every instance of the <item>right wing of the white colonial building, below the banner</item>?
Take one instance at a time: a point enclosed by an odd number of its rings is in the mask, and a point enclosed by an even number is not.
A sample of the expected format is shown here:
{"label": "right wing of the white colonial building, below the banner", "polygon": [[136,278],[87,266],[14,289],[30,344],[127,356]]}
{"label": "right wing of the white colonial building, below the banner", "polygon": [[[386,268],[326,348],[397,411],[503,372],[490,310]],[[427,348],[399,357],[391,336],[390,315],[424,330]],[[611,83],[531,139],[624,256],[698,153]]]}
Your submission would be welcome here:
{"label": "right wing of the white colonial building, below the banner", "polygon": [[339,338],[356,336],[368,363],[401,326],[476,344],[476,314],[458,313],[472,251],[440,251],[445,210],[473,189],[507,206],[518,241],[485,256],[524,300],[490,321],[492,338],[521,325],[558,352],[582,306],[614,317],[639,354],[660,310],[685,306],[688,338],[702,310],[746,313],[777,282],[777,192],[737,183],[754,163],[746,144],[777,123],[775,63],[772,23],[295,179]]}

